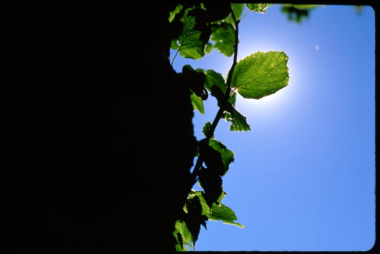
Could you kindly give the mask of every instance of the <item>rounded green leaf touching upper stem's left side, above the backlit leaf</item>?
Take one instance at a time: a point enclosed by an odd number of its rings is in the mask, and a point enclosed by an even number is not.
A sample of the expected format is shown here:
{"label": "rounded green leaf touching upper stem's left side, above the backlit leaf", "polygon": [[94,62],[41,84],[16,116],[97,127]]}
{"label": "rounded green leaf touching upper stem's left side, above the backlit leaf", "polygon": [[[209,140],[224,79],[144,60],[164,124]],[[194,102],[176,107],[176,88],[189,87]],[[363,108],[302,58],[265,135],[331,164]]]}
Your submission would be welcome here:
{"label": "rounded green leaf touching upper stem's left side, above the backlit leaf", "polygon": [[214,48],[226,56],[232,56],[235,52],[235,29],[229,23],[220,23],[213,28],[210,40],[215,41]]}

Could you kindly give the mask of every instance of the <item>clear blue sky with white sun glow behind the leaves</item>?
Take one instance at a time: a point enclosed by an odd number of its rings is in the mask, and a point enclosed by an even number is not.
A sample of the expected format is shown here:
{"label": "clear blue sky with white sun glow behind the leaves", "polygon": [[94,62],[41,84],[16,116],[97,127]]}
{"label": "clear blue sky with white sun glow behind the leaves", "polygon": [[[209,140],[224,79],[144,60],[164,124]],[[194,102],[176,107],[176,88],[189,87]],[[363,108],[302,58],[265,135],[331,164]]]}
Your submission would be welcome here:
{"label": "clear blue sky with white sun glow behind the leaves", "polygon": [[[297,24],[280,8],[244,17],[237,59],[284,51],[289,85],[260,100],[236,96],[251,131],[231,132],[221,120],[215,132],[235,152],[222,203],[246,228],[208,221],[196,251],[368,250],[375,240],[374,11],[327,5]],[[200,60],[178,55],[173,68],[226,77],[232,63],[214,50]],[[212,96],[204,104],[205,115],[193,118],[198,140],[218,109]]]}

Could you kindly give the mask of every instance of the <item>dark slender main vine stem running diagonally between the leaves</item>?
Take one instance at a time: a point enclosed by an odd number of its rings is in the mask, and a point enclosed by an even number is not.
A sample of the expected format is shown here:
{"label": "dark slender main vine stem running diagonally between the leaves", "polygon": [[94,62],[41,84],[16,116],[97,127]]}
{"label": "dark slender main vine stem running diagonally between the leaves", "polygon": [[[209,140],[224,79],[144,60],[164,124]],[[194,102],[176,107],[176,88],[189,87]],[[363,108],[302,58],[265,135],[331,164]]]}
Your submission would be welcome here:
{"label": "dark slender main vine stem running diagonally between the leaves", "polygon": [[[214,135],[215,129],[217,128],[217,124],[219,123],[219,120],[221,119],[222,114],[224,112],[225,105],[227,104],[228,100],[230,99],[232,75],[234,73],[234,69],[235,69],[235,66],[237,64],[237,44],[238,44],[238,39],[239,39],[239,37],[238,37],[238,32],[239,32],[238,24],[239,24],[240,20],[236,20],[236,17],[235,17],[235,14],[234,14],[232,7],[231,7],[231,15],[232,15],[232,18],[234,19],[234,22],[235,22],[234,62],[231,66],[230,71],[228,72],[227,83],[226,83],[227,89],[226,89],[226,93],[224,94],[223,101],[222,101],[221,105],[219,106],[219,110],[217,111],[217,115],[215,116],[215,119],[214,119],[213,123],[211,124],[211,128],[210,128],[210,130],[206,136],[207,141],[209,141],[210,138]],[[191,183],[192,183],[191,187],[193,187],[195,185],[195,183],[197,183],[197,181],[198,181],[197,176],[199,175],[199,170],[203,164],[203,161],[204,161],[204,155],[199,153],[197,163],[195,164],[194,170],[191,174],[192,178],[193,178],[192,179],[193,181],[191,181]]]}

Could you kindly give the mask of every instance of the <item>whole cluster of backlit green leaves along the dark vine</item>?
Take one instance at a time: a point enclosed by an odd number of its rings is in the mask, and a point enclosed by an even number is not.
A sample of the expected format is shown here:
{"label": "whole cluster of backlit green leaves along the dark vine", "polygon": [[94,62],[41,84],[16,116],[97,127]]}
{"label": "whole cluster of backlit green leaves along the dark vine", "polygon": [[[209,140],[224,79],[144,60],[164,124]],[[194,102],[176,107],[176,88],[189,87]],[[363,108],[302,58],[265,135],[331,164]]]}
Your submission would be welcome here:
{"label": "whole cluster of backlit green leaves along the dark vine", "polygon": [[[177,54],[184,58],[194,60],[204,57],[213,49],[226,56],[236,54],[239,18],[245,16],[242,16],[243,7],[244,4],[209,3],[177,6],[169,18],[173,29],[171,49],[177,50]],[[268,9],[264,3],[246,4],[246,7],[257,13],[265,13]],[[218,119],[231,122],[231,131],[251,130],[246,117],[235,108],[236,93],[256,100],[271,95],[288,85],[289,68],[288,56],[279,51],[258,51],[236,62],[234,55],[227,81],[212,69],[193,69],[190,65],[183,66],[182,72],[178,73],[183,81],[181,85],[189,89],[194,110],[205,114],[203,101],[210,94],[216,98],[219,111],[213,123],[207,121],[204,124],[202,133],[205,138],[198,140],[195,156],[198,156],[200,164],[192,174],[197,177],[196,181],[203,190],[191,190],[175,224],[173,237],[177,251],[187,250],[186,245],[195,249],[200,226],[207,230],[208,220],[221,220],[245,228],[235,221],[235,212],[221,203],[227,195],[223,190],[222,177],[235,158],[234,152],[215,138],[214,131]]]}

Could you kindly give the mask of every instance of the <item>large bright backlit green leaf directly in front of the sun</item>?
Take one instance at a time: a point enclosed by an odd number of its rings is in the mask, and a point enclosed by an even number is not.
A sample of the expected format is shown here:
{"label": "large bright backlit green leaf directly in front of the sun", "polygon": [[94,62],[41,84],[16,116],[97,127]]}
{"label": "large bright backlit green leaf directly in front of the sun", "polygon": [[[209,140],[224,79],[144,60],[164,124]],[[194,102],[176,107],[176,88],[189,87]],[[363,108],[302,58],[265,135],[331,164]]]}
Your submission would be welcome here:
{"label": "large bright backlit green leaf directly in front of the sun", "polygon": [[289,83],[288,56],[283,51],[258,51],[235,66],[231,87],[246,99],[260,99]]}

